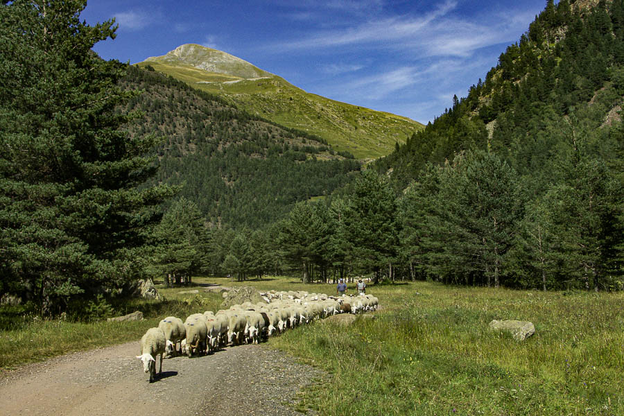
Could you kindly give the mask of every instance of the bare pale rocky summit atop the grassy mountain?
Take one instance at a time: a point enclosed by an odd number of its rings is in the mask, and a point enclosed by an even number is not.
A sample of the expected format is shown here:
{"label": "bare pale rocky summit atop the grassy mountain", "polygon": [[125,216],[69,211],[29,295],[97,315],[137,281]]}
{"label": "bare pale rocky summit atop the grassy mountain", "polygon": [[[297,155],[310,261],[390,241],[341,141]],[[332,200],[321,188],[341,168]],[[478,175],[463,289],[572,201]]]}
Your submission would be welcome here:
{"label": "bare pale rocky summit atop the grassy mountain", "polygon": [[236,58],[234,55],[198,44],[177,46],[177,48],[169,51],[166,55],[152,56],[146,59],[146,62],[150,61],[167,64],[187,64],[204,71],[224,73],[243,79],[274,76],[272,73],[254,67],[254,65],[241,58]]}

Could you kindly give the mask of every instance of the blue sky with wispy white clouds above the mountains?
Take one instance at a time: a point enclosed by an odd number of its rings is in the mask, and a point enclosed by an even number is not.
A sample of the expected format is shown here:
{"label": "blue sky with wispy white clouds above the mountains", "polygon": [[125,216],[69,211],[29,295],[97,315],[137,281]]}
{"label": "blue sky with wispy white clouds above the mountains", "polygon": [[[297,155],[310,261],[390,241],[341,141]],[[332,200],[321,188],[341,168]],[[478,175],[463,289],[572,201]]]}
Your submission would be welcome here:
{"label": "blue sky with wispy white clouds above the mountains", "polygon": [[517,1],[91,0],[116,18],[105,59],[136,63],[185,43],[220,49],[307,92],[426,123],[496,65],[544,9]]}

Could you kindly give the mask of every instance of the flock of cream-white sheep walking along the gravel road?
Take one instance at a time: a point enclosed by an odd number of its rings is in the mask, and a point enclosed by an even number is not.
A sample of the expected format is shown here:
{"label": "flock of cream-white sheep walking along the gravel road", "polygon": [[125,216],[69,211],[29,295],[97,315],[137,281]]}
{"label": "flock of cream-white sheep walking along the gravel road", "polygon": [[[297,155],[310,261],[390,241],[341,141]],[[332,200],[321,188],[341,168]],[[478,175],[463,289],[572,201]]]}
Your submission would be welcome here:
{"label": "flock of cream-white sheep walking along the gravel road", "polygon": [[263,293],[266,302],[244,302],[217,313],[193,313],[186,321],[168,316],[157,328],[150,328],[141,338],[141,355],[145,372],[150,373],[150,383],[156,379],[156,356],[212,352],[228,343],[240,345],[259,343],[261,340],[287,328],[307,324],[337,313],[375,311],[379,300],[372,295],[328,296],[304,291]]}

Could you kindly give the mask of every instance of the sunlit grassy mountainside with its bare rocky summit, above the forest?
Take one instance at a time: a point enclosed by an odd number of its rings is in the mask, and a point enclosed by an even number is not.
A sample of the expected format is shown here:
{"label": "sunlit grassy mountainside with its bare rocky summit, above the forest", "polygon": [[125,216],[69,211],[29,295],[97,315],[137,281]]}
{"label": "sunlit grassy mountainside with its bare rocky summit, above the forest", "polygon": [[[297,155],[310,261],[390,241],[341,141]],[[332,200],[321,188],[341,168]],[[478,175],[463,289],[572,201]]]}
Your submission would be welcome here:
{"label": "sunlit grassy mountainside with its bare rocky summit, above the forest", "polygon": [[241,109],[318,135],[358,159],[388,155],[423,126],[406,117],[309,94],[227,53],[186,44],[137,64],[218,94]]}

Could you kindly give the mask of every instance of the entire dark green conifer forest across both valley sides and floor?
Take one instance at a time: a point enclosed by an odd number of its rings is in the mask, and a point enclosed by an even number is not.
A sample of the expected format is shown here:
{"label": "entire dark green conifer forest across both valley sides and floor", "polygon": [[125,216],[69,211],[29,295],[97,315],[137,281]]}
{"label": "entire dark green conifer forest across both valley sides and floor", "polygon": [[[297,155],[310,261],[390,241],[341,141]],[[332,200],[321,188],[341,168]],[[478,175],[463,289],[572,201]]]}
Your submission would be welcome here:
{"label": "entire dark green conifer forest across both valley sides and floor", "polygon": [[114,22],[85,6],[0,4],[0,293],[55,315],[164,276],[624,289],[624,0],[548,0],[366,162],[99,58]]}

